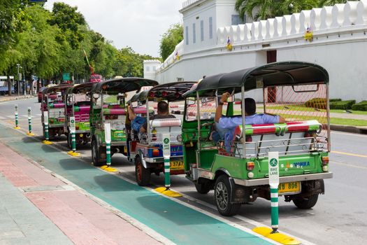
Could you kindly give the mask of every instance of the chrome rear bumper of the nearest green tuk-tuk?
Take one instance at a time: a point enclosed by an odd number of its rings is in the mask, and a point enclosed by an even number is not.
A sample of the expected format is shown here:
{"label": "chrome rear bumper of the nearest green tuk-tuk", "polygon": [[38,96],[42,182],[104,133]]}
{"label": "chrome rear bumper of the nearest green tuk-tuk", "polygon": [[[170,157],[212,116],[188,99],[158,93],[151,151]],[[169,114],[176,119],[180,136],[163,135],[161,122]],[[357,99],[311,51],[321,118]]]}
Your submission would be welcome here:
{"label": "chrome rear bumper of the nearest green tuk-tuk", "polygon": [[[313,181],[316,179],[331,179],[333,178],[333,173],[319,173],[319,174],[302,174],[294,176],[282,176],[279,177],[279,183],[288,183],[295,181]],[[234,183],[239,186],[264,186],[269,184],[269,179],[234,179]]]}

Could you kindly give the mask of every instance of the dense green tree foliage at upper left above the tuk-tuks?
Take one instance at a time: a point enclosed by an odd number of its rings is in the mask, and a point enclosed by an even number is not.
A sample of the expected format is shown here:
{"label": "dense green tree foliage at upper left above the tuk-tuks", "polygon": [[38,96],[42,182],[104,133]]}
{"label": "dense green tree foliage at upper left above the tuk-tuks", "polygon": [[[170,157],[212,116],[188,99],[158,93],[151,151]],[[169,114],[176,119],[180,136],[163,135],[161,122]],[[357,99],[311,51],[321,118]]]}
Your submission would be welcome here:
{"label": "dense green tree foliage at upper left above the tuk-tuks", "polygon": [[61,80],[62,73],[88,80],[91,71],[104,78],[143,76],[143,59],[132,48],[117,50],[101,34],[89,29],[78,8],[55,3],[52,12],[22,0],[0,3],[0,74],[17,77],[17,64],[27,80],[31,75]]}

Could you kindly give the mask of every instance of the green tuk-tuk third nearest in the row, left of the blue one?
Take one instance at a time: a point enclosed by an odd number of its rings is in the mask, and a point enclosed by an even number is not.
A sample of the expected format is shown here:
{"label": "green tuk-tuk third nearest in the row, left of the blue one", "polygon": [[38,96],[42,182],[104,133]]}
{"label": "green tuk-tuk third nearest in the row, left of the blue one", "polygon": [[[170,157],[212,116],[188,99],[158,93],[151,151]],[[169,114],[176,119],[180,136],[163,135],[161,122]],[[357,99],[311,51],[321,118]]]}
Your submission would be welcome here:
{"label": "green tuk-tuk third nearest in the row, left of the blue one", "polygon": [[102,81],[94,86],[89,111],[94,165],[106,164],[105,123],[110,123],[111,128],[110,154],[127,154],[127,130],[129,129],[125,127],[127,123],[126,93],[139,91],[143,86],[154,85],[158,85],[157,81],[145,78],[117,78]]}

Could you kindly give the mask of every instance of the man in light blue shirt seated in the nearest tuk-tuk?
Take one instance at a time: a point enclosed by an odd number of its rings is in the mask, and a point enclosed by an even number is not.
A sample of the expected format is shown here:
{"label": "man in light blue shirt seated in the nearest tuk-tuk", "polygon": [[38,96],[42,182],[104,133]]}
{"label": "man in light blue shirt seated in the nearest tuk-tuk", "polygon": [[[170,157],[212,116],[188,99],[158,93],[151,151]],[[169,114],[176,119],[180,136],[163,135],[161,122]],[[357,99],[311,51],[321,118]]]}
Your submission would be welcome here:
{"label": "man in light blue shirt seated in the nearest tuk-tuk", "polygon": [[[219,134],[224,136],[224,144],[226,151],[231,151],[231,141],[233,141],[234,130],[238,125],[242,125],[242,116],[235,116],[227,118],[222,116],[223,104],[231,96],[229,92],[222,94],[222,98],[218,103],[217,110],[215,111],[215,125],[220,129]],[[257,114],[256,102],[252,98],[245,99],[245,124],[268,124],[268,123],[285,123],[285,119],[278,115],[269,114]]]}

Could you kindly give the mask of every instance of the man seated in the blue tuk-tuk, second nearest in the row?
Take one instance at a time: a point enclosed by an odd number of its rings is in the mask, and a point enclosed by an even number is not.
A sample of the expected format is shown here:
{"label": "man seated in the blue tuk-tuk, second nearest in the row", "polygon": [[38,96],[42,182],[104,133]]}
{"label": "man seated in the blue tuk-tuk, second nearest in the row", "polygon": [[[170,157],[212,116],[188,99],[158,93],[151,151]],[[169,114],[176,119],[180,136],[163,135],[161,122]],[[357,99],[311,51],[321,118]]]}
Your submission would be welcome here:
{"label": "man seated in the blue tuk-tuk, second nearest in the row", "polygon": [[[131,127],[136,132],[147,132],[147,119],[141,116],[136,116],[131,106],[127,106],[127,113],[129,113],[129,120],[131,120]],[[175,118],[175,116],[169,113],[169,107],[167,102],[159,102],[157,105],[157,114],[150,117],[150,120]]]}

